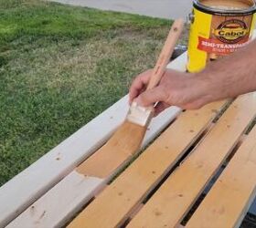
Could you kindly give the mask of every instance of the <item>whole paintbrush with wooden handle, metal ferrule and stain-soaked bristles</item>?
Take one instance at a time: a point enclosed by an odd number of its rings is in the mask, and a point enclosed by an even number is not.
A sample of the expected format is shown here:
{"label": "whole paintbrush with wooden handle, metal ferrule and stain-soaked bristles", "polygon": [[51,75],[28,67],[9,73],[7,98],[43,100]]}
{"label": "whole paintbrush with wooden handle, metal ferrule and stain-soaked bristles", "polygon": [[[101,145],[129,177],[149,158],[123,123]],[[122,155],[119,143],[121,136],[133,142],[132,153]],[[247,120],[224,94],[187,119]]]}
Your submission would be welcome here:
{"label": "whole paintbrush with wooden handle, metal ferrule and stain-soaked bristles", "polygon": [[[165,74],[166,66],[174,52],[176,42],[182,33],[183,26],[183,19],[176,19],[173,23],[165,40],[165,45],[156,61],[146,90],[155,88]],[[142,140],[144,139],[145,130],[153,116],[154,106],[141,107],[133,102],[123,125],[115,132],[109,142],[115,141],[116,143],[116,140],[120,140],[120,143],[127,149],[127,152],[133,153],[135,150],[139,149]]]}

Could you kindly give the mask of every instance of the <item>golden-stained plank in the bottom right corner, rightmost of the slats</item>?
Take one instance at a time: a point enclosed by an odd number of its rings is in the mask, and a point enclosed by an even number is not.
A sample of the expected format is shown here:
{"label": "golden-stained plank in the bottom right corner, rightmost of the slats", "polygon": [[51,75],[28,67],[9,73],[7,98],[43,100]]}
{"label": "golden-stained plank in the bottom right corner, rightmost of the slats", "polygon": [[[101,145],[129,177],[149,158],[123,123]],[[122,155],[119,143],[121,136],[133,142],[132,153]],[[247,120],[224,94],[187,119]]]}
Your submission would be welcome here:
{"label": "golden-stained plank in the bottom right corner, rightmost of the slats", "polygon": [[240,227],[256,193],[256,128],[188,221],[186,227]]}

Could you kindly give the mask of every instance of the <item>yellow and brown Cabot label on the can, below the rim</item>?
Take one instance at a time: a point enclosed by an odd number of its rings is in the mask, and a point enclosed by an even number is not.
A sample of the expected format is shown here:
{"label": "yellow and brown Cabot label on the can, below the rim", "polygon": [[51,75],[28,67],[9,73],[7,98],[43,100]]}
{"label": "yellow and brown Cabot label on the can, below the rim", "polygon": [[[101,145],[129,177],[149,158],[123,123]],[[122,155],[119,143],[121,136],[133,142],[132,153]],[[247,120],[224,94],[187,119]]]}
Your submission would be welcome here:
{"label": "yellow and brown Cabot label on the can, below the rim", "polygon": [[227,56],[251,39],[255,16],[211,15],[193,9],[194,22],[190,26],[188,42],[189,72],[206,67],[208,61]]}

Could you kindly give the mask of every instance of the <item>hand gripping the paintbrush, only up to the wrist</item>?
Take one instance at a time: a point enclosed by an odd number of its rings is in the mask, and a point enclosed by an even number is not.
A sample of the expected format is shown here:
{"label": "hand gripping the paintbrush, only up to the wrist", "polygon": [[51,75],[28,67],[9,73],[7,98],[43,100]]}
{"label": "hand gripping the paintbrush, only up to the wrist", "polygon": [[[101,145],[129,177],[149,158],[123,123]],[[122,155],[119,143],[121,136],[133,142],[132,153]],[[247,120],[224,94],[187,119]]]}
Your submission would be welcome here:
{"label": "hand gripping the paintbrush, only up to the wrist", "polygon": [[154,105],[155,115],[170,106],[182,109],[199,109],[208,102],[205,80],[194,74],[181,73],[167,69],[159,85],[145,91],[152,70],[147,70],[134,79],[130,88],[130,103],[134,100],[139,105],[147,107]]}

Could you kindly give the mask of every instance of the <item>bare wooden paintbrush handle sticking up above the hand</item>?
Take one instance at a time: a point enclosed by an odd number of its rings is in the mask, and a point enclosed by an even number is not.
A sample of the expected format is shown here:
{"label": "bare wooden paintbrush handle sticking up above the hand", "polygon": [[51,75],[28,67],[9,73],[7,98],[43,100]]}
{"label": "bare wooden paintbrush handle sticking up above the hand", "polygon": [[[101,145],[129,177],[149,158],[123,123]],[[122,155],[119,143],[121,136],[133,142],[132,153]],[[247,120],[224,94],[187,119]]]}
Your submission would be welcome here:
{"label": "bare wooden paintbrush handle sticking up above the hand", "polygon": [[165,68],[174,52],[176,42],[182,33],[183,26],[183,19],[176,19],[173,26],[171,27],[167,39],[165,40],[165,45],[161,51],[160,56],[157,59],[153,73],[146,89],[155,88],[163,77],[163,74],[165,73]]}

